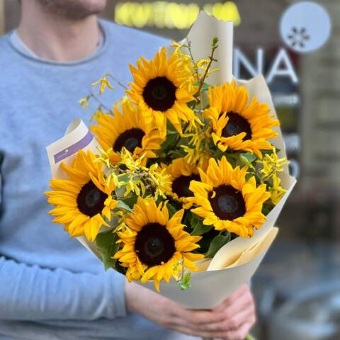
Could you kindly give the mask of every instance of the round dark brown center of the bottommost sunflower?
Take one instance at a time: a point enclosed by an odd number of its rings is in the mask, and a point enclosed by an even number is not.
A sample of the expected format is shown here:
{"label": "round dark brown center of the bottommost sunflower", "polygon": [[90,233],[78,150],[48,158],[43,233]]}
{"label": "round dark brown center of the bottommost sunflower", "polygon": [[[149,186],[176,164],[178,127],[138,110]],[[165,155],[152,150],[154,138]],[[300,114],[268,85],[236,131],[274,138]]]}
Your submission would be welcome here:
{"label": "round dark brown center of the bottommost sunflower", "polygon": [[148,223],[138,232],[135,251],[142,263],[149,267],[166,263],[174,255],[175,241],[164,225]]}

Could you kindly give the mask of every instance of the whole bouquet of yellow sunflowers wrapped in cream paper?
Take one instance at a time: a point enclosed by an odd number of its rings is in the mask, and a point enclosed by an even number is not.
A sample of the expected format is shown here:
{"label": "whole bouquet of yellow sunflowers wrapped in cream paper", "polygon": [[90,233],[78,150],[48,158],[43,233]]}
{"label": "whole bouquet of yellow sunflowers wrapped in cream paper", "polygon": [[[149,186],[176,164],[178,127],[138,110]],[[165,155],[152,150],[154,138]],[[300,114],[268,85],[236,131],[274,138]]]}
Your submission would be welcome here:
{"label": "whole bouquet of yellow sunflowers wrapped in cream paper", "polygon": [[[47,147],[47,196],[106,268],[210,308],[256,271],[295,179],[265,81],[231,77],[232,24],[201,13],[192,32],[130,66],[113,111],[100,103],[94,125],[77,120]],[[100,95],[112,81],[93,85]]]}

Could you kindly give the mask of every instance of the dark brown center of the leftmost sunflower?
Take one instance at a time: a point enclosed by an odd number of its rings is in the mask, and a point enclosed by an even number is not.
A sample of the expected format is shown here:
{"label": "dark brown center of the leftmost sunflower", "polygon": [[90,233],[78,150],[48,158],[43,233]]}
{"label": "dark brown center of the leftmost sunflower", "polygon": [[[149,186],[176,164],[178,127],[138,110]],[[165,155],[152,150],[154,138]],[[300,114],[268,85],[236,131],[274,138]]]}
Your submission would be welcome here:
{"label": "dark brown center of the leftmost sunflower", "polygon": [[102,212],[106,198],[108,198],[108,195],[99,190],[94,182],[89,181],[78,193],[78,209],[84,215],[94,217],[94,215]]}

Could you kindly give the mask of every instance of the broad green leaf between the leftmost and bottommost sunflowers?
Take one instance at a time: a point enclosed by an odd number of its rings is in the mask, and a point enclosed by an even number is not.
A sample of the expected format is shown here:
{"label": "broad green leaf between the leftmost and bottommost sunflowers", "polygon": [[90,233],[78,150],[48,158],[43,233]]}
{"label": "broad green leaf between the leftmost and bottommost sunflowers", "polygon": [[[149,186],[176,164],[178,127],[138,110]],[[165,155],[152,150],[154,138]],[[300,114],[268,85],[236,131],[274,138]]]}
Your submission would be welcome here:
{"label": "broad green leaf between the leftmost and bottommost sunflowers", "polygon": [[112,231],[109,232],[101,232],[96,237],[96,245],[98,246],[98,250],[101,253],[101,259],[103,260],[105,270],[108,268],[115,268],[116,259],[112,259],[112,256],[119,249],[118,235],[113,233]]}

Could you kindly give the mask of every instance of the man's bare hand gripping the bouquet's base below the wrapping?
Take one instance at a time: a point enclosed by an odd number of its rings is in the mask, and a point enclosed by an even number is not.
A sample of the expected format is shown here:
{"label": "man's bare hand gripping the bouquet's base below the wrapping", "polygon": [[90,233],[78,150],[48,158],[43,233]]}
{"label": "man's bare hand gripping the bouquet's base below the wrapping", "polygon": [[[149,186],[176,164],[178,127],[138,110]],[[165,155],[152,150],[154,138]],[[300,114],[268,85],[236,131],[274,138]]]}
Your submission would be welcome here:
{"label": "man's bare hand gripping the bouquet's base below the wrapping", "polygon": [[125,286],[126,307],[180,333],[203,338],[244,340],[256,321],[254,299],[243,285],[212,310],[189,310],[136,283]]}

